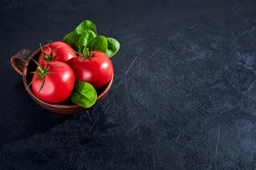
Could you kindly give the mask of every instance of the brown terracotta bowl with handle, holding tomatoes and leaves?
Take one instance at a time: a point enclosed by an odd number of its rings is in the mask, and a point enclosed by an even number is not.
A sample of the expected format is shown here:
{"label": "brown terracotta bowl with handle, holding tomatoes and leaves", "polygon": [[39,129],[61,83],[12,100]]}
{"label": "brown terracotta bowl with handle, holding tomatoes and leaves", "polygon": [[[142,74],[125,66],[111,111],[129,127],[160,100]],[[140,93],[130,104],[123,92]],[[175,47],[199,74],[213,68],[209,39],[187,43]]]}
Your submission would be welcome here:
{"label": "brown terracotta bowl with handle, holding tomatoes and leaves", "polygon": [[[39,48],[36,52],[31,52],[30,50],[22,49],[16,55],[11,57],[11,65],[14,67],[18,74],[23,76],[23,84],[25,88],[28,87],[28,84],[32,80],[32,75],[30,72],[34,72],[36,70],[36,63],[31,60],[38,60],[38,56],[41,54],[41,49]],[[110,81],[102,87],[102,89],[97,90],[97,101],[96,103],[90,107],[95,107],[98,103],[100,103],[109,93],[110,88],[112,86],[114,74],[112,75]],[[48,103],[46,101],[42,101],[35,94],[33,94],[33,90],[31,86],[28,87],[28,95],[31,96],[33,101],[35,101],[39,106],[45,108],[48,111],[60,114],[75,114],[81,113],[89,110],[90,108],[83,108],[77,104],[72,103],[69,99],[63,101],[62,103]]]}

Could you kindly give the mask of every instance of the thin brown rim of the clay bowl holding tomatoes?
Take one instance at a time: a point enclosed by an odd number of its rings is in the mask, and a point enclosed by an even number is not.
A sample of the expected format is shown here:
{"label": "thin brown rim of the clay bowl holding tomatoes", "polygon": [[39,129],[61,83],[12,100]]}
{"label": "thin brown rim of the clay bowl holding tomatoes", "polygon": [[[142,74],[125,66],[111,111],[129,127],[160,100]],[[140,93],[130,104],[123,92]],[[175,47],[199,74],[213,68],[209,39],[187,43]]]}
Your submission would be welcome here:
{"label": "thin brown rim of the clay bowl holding tomatoes", "polygon": [[[46,45],[45,45],[46,46]],[[27,70],[28,70],[28,64],[32,61],[31,58],[35,57],[36,55],[38,55],[38,53],[41,52],[41,49],[39,48],[38,50],[36,50],[35,52],[33,52],[33,54],[31,55],[31,57],[28,58],[28,60],[26,61],[26,64],[24,66],[23,69],[23,84],[25,85],[26,89],[28,89],[28,94],[30,94],[33,98],[36,99],[36,101],[43,103],[46,106],[50,106],[50,107],[54,107],[54,108],[63,108],[63,109],[69,109],[69,108],[82,108],[82,106],[79,106],[78,104],[73,104],[73,105],[60,105],[58,103],[50,103],[50,102],[46,102],[41,100],[40,98],[38,98],[32,91],[31,87],[28,87],[28,81],[26,79],[27,77]],[[105,85],[105,89],[104,91],[102,91],[98,96],[97,96],[97,100],[99,100],[102,96],[104,96],[104,94],[107,93],[108,89],[110,89],[112,82],[113,82],[113,78],[114,78],[114,71],[112,74],[112,77],[110,78],[110,81],[108,81],[107,85]],[[92,106],[93,107],[93,106]]]}

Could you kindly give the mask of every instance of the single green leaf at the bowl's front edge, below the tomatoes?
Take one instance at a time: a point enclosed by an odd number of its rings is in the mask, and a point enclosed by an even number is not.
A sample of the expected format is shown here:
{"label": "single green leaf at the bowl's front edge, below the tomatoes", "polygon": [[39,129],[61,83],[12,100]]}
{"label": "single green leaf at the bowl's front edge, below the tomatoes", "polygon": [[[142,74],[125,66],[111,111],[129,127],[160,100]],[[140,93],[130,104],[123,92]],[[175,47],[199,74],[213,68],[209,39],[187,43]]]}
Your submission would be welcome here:
{"label": "single green leaf at the bowl's front edge, below the tomatoes", "polygon": [[77,81],[70,99],[73,103],[84,108],[90,108],[97,100],[97,92],[91,84],[85,81]]}

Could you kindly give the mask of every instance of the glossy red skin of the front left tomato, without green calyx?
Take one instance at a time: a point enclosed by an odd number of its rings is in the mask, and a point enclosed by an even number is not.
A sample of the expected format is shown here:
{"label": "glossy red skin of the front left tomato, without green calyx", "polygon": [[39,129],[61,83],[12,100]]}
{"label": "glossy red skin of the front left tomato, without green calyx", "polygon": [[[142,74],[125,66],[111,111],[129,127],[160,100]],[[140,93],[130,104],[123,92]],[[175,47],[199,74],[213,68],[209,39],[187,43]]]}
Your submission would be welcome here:
{"label": "glossy red skin of the front left tomato, without green calyx", "polygon": [[[60,103],[65,101],[73,91],[75,86],[75,74],[73,69],[68,64],[64,62],[46,62],[46,67],[51,66],[48,72],[55,72],[57,74],[46,74],[45,80],[43,82],[43,87],[38,94],[41,86],[42,78],[38,78],[32,83],[32,89],[34,94],[41,98],[43,101],[50,103]],[[41,65],[44,68],[44,64]],[[36,69],[36,72],[39,72]],[[33,74],[33,78],[38,77],[38,74]]]}

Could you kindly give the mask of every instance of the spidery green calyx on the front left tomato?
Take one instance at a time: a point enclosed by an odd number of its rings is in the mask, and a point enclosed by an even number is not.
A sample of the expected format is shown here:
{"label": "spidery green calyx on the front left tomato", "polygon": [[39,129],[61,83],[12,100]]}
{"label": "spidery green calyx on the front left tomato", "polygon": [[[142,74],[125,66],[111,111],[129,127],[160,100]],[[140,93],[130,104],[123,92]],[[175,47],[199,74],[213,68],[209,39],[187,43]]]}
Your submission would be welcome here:
{"label": "spidery green calyx on the front left tomato", "polygon": [[[33,58],[31,58],[31,60],[33,60]],[[36,62],[36,60],[33,60],[34,62]],[[40,86],[40,89],[38,91],[38,94],[39,92],[41,91],[42,87],[43,87],[43,82],[45,80],[45,77],[46,77],[46,74],[58,74],[58,73],[55,73],[55,72],[48,72],[48,70],[50,69],[50,67],[54,66],[54,65],[57,65],[57,64],[53,64],[53,65],[50,65],[49,67],[46,67],[46,61],[43,60],[43,62],[45,63],[45,67],[41,67],[40,64],[38,64],[38,62],[36,62],[36,64],[38,65],[38,70],[39,72],[31,72],[31,74],[38,74],[38,77],[36,77],[35,79],[33,79],[31,81],[30,84],[28,84],[28,87],[33,83],[33,81],[35,81],[36,79],[39,79],[39,78],[42,78],[42,82],[41,82],[41,86]],[[28,87],[26,88],[26,90],[28,90]]]}

